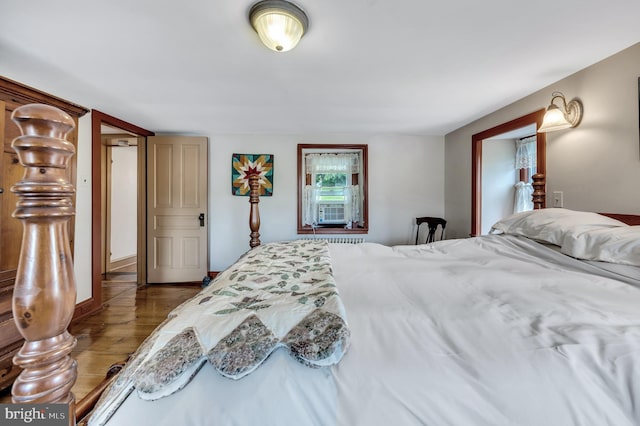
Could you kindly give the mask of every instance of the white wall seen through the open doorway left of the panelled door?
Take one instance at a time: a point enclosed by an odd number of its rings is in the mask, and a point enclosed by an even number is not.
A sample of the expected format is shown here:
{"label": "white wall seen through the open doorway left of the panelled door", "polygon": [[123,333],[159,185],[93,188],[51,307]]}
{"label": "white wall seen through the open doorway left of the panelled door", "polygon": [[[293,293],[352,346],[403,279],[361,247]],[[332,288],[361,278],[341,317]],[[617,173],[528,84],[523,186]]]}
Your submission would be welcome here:
{"label": "white wall seen through the open doorway left of the panelled door", "polygon": [[138,147],[111,148],[112,262],[138,251]]}

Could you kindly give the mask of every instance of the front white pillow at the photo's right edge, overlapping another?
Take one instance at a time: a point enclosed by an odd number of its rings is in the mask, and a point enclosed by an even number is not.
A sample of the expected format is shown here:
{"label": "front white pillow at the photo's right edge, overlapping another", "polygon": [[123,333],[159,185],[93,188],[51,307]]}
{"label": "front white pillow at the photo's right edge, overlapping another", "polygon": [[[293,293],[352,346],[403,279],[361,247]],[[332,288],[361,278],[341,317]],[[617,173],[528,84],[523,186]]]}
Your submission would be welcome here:
{"label": "front white pillow at the photo's right edge, overlapping another", "polygon": [[576,229],[560,251],[578,259],[640,266],[640,226]]}

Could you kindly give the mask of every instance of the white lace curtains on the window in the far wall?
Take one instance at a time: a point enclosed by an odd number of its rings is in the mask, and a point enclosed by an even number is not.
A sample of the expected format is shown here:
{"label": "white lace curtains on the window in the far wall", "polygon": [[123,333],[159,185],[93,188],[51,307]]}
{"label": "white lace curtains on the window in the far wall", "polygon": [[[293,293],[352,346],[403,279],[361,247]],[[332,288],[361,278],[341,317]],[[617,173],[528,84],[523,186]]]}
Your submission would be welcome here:
{"label": "white lace curtains on the window in the far wall", "polygon": [[[346,173],[350,175],[360,173],[360,157],[356,153],[318,153],[305,155],[305,173],[315,176],[317,173]],[[360,221],[360,187],[347,185],[344,188],[345,195],[345,220],[347,227],[353,222]],[[305,185],[303,199],[303,225],[315,226],[318,224],[318,188],[314,185]]]}

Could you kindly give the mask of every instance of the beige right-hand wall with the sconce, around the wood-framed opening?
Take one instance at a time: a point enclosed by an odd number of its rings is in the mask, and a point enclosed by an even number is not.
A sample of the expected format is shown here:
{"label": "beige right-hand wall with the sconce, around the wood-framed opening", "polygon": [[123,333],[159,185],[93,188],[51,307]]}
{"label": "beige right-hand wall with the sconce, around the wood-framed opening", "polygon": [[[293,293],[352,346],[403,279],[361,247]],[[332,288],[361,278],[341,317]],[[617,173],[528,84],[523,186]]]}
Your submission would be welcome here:
{"label": "beige right-hand wall with the sconce, around the wood-framed opening", "polygon": [[638,76],[640,44],[447,134],[448,237],[471,231],[471,136],[546,108],[553,91],[579,98],[584,116],[574,129],[547,134],[547,203],[563,191],[569,209],[640,213]]}

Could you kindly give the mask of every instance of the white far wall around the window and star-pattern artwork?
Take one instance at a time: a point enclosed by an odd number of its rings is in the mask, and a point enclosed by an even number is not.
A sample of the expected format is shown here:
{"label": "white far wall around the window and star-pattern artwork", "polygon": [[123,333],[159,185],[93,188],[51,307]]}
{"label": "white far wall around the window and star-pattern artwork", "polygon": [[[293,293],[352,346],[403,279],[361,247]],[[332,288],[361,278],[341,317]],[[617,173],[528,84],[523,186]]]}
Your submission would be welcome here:
{"label": "white far wall around the window and star-pattern artwork", "polygon": [[297,238],[297,144],[368,144],[366,241],[408,244],[417,216],[444,214],[444,138],[407,135],[209,136],[210,270],[249,248],[249,198],[231,195],[231,156],[273,154],[273,196],[260,199],[261,241]]}

